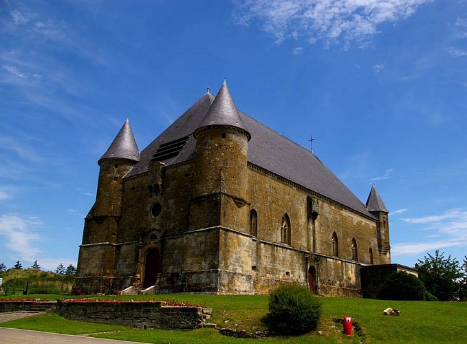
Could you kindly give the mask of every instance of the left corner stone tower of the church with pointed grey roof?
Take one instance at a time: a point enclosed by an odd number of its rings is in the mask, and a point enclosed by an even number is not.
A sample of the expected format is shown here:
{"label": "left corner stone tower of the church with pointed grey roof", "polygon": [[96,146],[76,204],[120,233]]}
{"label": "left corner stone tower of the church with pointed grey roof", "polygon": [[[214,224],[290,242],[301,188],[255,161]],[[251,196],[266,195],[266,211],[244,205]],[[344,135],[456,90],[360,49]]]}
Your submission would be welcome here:
{"label": "left corner stone tower of the church with pointed grey roof", "polygon": [[129,120],[99,159],[96,202],[85,218],[83,244],[72,293],[111,291],[118,224],[122,216],[122,178],[140,160]]}

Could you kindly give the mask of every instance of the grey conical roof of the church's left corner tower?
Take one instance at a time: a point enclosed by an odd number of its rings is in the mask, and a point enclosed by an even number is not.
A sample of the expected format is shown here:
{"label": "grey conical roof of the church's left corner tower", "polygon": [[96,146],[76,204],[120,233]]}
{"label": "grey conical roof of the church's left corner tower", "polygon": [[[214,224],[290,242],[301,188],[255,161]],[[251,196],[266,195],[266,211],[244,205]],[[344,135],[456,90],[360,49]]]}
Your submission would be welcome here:
{"label": "grey conical roof of the church's left corner tower", "polygon": [[99,162],[109,158],[128,159],[135,162],[140,161],[140,152],[138,151],[138,146],[136,145],[128,118],[125,120],[122,129],[118,131],[116,138],[113,139],[109,149],[107,149],[104,155],[102,155],[102,158],[99,159]]}

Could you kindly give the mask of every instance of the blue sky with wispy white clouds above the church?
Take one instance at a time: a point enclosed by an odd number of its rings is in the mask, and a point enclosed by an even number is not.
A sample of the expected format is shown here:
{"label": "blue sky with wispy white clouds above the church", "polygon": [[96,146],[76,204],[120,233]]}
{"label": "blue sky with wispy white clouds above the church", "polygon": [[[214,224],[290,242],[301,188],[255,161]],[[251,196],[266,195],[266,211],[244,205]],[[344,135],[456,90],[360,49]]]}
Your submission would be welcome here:
{"label": "blue sky with wispy white clouds above the church", "polygon": [[467,1],[0,0],[0,262],[76,266],[127,116],[144,149],[223,78],[362,202],[376,184],[393,262],[467,254]]}

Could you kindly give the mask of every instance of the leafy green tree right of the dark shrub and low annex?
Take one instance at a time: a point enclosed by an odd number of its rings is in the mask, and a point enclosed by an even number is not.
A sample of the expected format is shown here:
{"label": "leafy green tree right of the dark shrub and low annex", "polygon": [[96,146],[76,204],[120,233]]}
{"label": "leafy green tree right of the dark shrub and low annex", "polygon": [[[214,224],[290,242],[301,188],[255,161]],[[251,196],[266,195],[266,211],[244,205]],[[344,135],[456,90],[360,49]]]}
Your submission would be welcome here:
{"label": "leafy green tree right of the dark shrub and low annex", "polygon": [[424,261],[418,259],[418,277],[422,280],[426,290],[431,292],[439,301],[451,301],[457,296],[457,279],[462,277],[459,261],[444,257],[444,252],[435,251],[433,257],[428,253]]}

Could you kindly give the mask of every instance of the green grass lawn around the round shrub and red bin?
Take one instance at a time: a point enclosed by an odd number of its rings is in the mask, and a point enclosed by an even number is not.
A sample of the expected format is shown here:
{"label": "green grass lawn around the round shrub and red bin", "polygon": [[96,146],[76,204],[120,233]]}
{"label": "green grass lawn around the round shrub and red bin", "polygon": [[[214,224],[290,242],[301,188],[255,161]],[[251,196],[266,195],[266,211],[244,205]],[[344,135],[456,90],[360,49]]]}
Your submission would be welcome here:
{"label": "green grass lawn around the round shrub and red bin", "polygon": [[[111,299],[111,297],[100,297]],[[268,312],[268,297],[238,295],[138,295],[119,299],[177,299],[213,308],[211,323],[241,330],[263,330],[261,319]],[[323,316],[315,332],[305,336],[276,337],[261,340],[266,343],[465,343],[467,338],[467,303],[425,301],[383,301],[372,299],[321,298]],[[387,307],[401,310],[400,316],[384,316]],[[352,338],[342,333],[342,324],[335,319],[349,315],[361,330]],[[27,328],[67,334],[94,334],[100,338],[141,341],[146,343],[258,343],[221,336],[216,330],[188,332],[165,330],[135,330],[129,327],[80,323],[56,314],[44,314],[0,324],[4,327]],[[116,332],[117,331],[117,332]]]}

